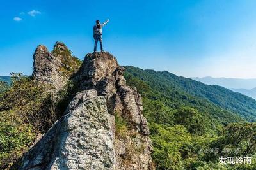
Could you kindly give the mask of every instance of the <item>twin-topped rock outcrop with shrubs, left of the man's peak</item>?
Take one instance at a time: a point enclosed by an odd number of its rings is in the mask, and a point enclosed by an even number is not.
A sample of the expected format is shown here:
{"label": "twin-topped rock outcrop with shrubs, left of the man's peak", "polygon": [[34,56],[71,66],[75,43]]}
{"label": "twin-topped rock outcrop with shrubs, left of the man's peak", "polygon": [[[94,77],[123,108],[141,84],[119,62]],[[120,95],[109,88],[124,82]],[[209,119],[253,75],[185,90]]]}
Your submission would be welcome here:
{"label": "twin-topped rock outcrop with shrubs, left of the man's peak", "polygon": [[39,45],[33,59],[33,77],[38,82],[51,85],[54,92],[61,90],[80,66],[79,60],[60,42],[54,45],[51,53],[44,45]]}

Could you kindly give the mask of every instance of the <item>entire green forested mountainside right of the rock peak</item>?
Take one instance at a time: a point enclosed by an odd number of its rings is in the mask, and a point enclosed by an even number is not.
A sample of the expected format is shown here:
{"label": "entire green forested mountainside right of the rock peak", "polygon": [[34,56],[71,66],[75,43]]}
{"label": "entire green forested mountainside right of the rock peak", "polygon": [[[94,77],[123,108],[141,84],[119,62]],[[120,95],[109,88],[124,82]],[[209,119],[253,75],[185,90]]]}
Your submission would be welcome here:
{"label": "entire green forested mountainside right of the rock peak", "polygon": [[[254,120],[255,101],[166,71],[125,69],[127,84],[143,97],[157,169],[256,168],[256,124],[243,119]],[[239,152],[235,152],[237,148]],[[209,149],[218,152],[202,152]],[[223,152],[227,149],[230,153]],[[221,156],[253,159],[252,164],[222,165]]]}

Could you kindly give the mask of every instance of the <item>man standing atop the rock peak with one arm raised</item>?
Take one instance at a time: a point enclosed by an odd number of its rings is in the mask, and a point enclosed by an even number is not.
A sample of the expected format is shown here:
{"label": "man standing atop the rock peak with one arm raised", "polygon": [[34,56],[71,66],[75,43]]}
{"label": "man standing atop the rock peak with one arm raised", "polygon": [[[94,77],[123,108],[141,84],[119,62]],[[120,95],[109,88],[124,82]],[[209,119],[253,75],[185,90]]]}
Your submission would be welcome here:
{"label": "man standing atop the rock peak with one arm raised", "polygon": [[102,46],[102,27],[106,25],[109,22],[109,20],[106,20],[106,22],[103,22],[103,24],[100,24],[100,21],[96,21],[96,25],[93,27],[93,38],[95,40],[94,43],[94,53],[97,51],[97,43],[100,41],[100,50],[103,52],[103,46]]}

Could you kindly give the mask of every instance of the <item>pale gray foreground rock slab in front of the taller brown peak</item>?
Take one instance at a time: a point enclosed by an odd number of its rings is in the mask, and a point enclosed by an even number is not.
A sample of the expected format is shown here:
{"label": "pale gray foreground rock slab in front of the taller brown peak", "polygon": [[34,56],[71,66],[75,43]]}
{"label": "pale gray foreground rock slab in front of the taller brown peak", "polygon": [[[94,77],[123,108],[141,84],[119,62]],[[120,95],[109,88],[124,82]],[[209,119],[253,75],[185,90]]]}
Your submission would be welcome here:
{"label": "pale gray foreground rock slab in front of the taller brown peak", "polygon": [[115,169],[106,99],[84,90],[66,113],[26,153],[21,169]]}

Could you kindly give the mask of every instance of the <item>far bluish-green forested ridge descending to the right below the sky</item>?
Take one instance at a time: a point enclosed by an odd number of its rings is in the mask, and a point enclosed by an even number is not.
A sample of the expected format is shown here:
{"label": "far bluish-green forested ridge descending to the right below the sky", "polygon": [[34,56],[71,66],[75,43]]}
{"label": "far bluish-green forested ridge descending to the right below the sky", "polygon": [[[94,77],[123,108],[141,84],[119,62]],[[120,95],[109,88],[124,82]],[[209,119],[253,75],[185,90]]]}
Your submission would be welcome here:
{"label": "far bluish-green forested ridge descending to the right below the sky", "polygon": [[[158,86],[158,90],[165,94],[169,93],[166,89],[172,89],[170,94],[173,95],[175,92],[177,94],[175,97],[176,99],[177,96],[179,96],[178,103],[181,101],[182,103],[188,101],[187,97],[189,94],[189,96],[198,99],[198,101],[189,101],[189,103],[195,105],[195,107],[204,106],[205,103],[209,104],[209,106],[214,104],[215,107],[219,106],[219,108],[222,108],[225,110],[224,112],[227,111],[229,114],[231,112],[235,113],[250,122],[256,120],[256,101],[243,94],[232,92],[232,90],[225,89],[218,85],[205,85],[204,83],[200,83],[190,78],[176,76],[168,71],[157,72],[153,70],[142,70],[132,66],[127,66],[125,68],[127,69],[127,74],[131,74],[146,81],[153,89]],[[186,93],[186,95],[182,96],[184,93]],[[170,96],[166,97],[170,98]],[[209,102],[206,102],[205,100]],[[205,106],[205,108],[209,108],[209,106]]]}

